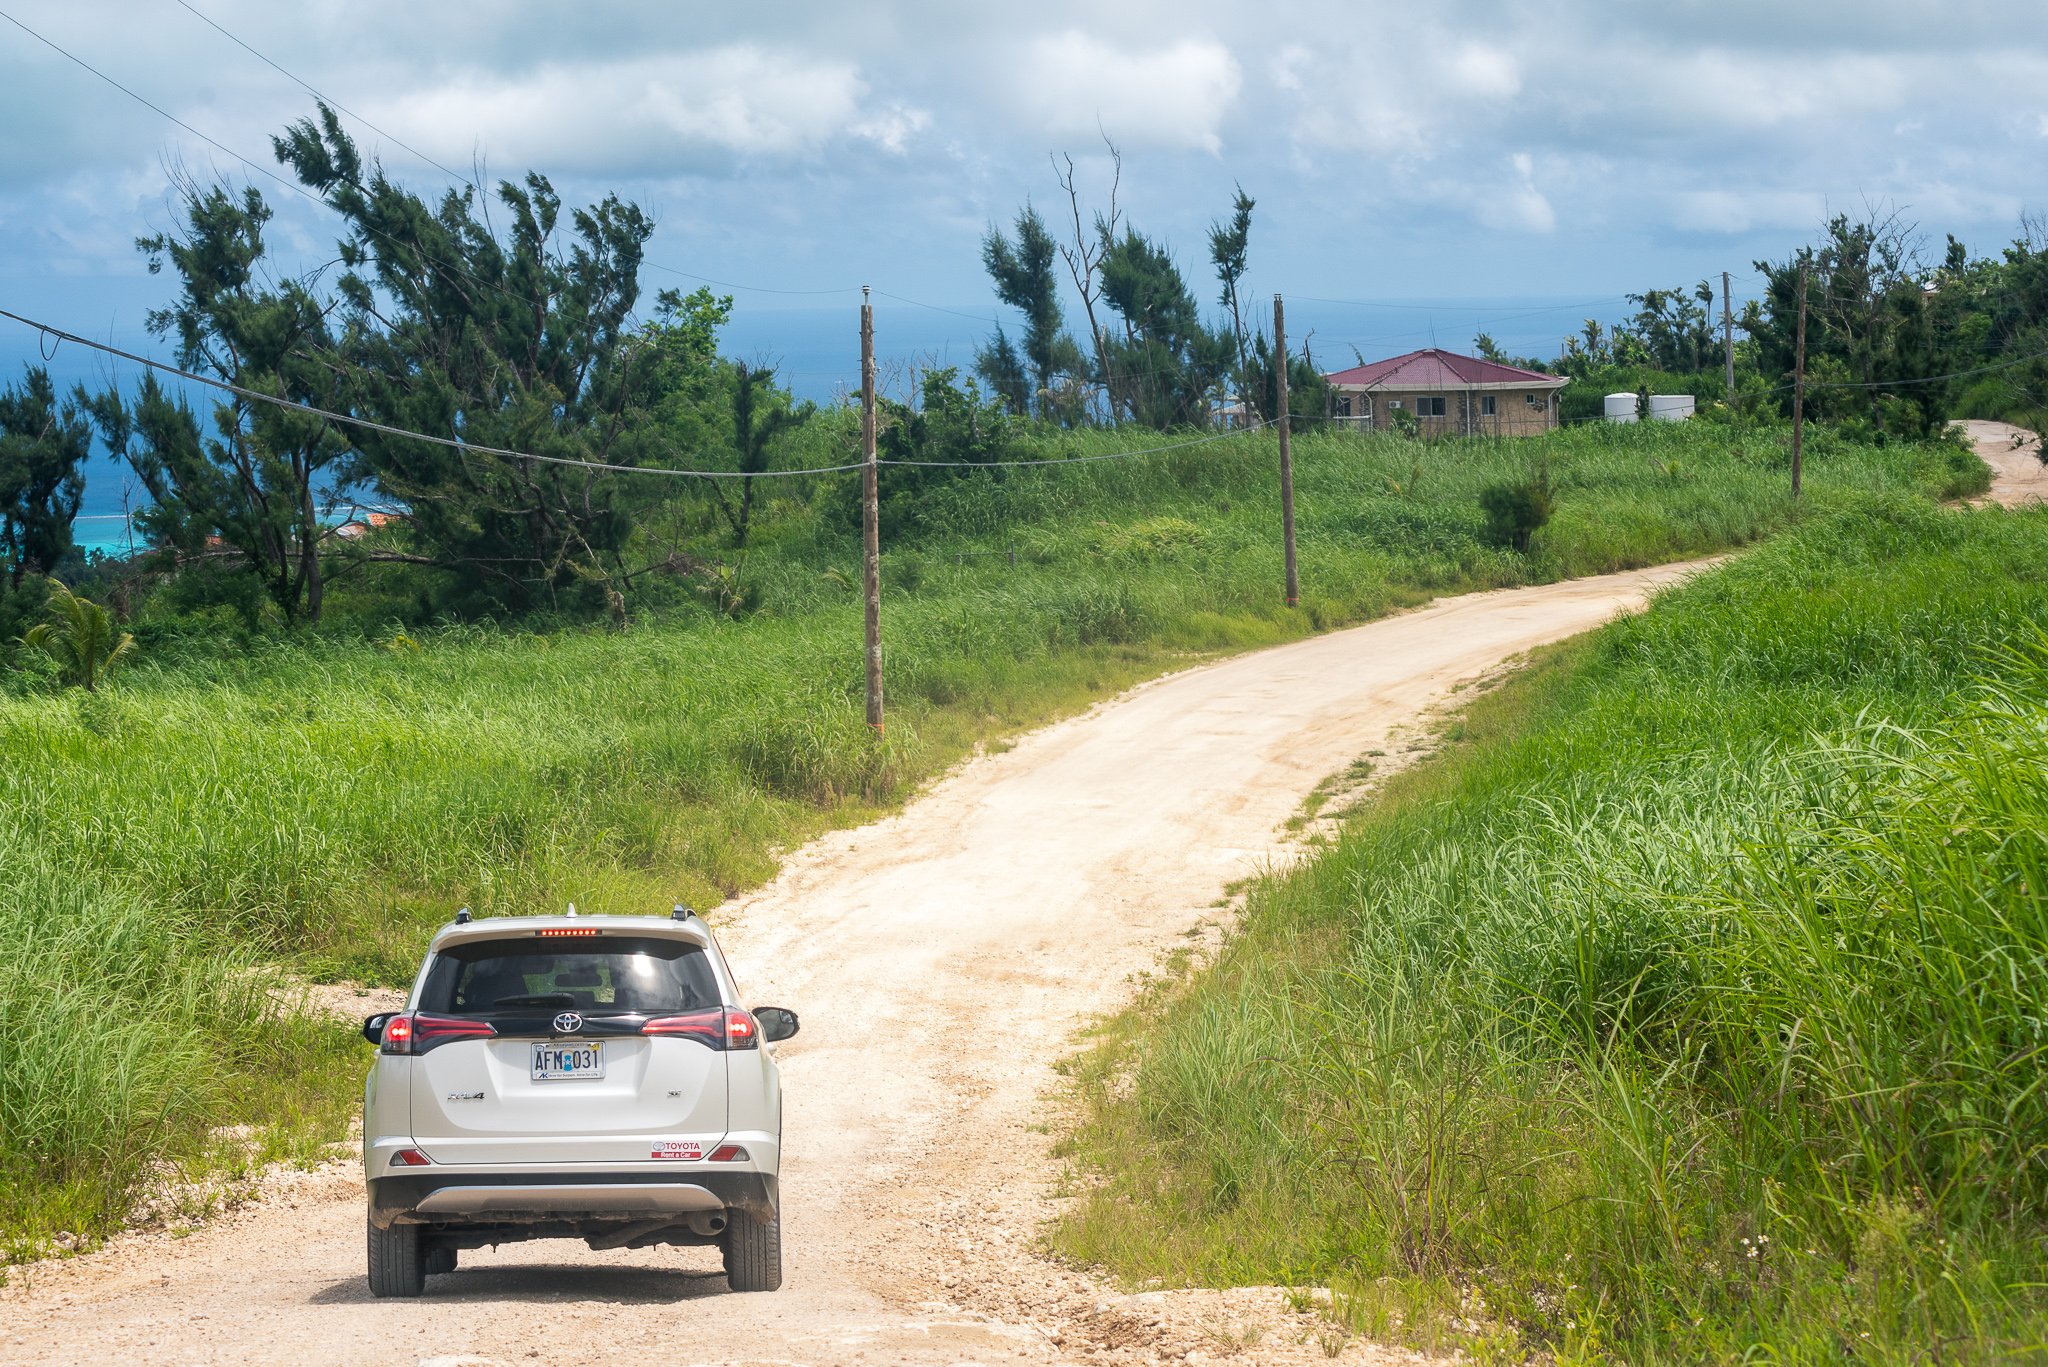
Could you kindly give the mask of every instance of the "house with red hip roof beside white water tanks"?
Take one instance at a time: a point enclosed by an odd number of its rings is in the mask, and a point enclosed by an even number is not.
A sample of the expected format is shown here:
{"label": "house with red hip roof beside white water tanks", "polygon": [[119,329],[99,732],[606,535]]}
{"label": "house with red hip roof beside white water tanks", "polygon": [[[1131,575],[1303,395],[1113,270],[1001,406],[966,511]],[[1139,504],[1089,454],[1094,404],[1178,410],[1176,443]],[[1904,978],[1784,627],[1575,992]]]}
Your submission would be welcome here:
{"label": "house with red hip roof beside white water tanks", "polygon": [[1423,437],[1532,437],[1556,426],[1563,375],[1524,371],[1454,350],[1354,365],[1325,375],[1339,424],[1393,430],[1399,410],[1415,414]]}

